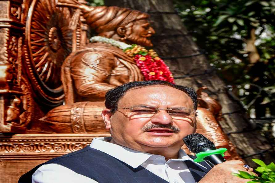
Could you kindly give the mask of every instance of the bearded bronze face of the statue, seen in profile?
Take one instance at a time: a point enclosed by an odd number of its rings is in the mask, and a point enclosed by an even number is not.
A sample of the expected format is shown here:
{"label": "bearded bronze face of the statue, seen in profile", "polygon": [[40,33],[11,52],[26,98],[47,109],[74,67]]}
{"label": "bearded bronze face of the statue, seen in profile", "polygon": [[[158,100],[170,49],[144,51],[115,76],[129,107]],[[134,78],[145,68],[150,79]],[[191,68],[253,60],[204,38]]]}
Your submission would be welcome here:
{"label": "bearded bronze face of the statue, seen in profile", "polygon": [[155,34],[155,30],[150,26],[148,20],[136,20],[133,22],[132,33],[127,37],[127,41],[141,46],[153,46],[150,37]]}

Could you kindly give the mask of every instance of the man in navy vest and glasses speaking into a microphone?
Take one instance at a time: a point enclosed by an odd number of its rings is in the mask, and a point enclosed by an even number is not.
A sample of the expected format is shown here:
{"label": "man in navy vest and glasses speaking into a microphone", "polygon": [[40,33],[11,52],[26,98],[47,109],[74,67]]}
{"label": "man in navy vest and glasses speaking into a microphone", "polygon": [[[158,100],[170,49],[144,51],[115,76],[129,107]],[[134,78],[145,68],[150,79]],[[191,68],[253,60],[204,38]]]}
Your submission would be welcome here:
{"label": "man in navy vest and glasses speaking into a microphone", "polygon": [[[196,131],[197,95],[166,81],[126,83],[106,93],[102,118],[110,138],[54,158],[19,183],[244,183],[232,176],[243,162],[227,161],[211,169],[195,163],[182,149],[184,136]],[[252,171],[252,169],[248,169]]]}

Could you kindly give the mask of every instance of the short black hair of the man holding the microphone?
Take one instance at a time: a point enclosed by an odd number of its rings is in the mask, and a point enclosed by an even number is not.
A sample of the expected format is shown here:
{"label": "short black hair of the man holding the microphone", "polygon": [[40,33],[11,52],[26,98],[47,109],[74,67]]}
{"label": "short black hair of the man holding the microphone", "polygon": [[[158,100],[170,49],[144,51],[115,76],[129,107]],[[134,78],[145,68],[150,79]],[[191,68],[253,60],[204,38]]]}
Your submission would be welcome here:
{"label": "short black hair of the man holding the microphone", "polygon": [[[162,81],[162,80],[133,81],[133,82],[125,83],[121,86],[115,87],[106,93],[105,107],[107,109],[117,108],[119,100],[130,89],[137,89],[137,88],[152,86],[152,85],[165,85],[165,86],[173,87],[180,91],[183,91],[192,99],[194,108],[195,108],[195,110],[197,109],[197,106],[198,106],[197,97],[198,96],[193,88],[172,84],[172,83],[169,83],[167,81]],[[130,107],[130,106],[127,106],[127,107]],[[115,112],[115,111],[116,111],[116,109],[111,110],[111,112]]]}

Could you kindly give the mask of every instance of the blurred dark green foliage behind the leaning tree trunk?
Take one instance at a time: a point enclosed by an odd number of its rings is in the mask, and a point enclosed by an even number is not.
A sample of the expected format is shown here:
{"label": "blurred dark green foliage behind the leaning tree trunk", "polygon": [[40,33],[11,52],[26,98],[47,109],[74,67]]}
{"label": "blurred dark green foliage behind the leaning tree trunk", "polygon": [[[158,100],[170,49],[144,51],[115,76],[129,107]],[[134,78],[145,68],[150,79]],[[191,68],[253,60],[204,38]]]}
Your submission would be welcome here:
{"label": "blurred dark green foliage behind the leaning tree trunk", "polygon": [[[173,0],[229,92],[275,147],[275,1]],[[104,0],[89,0],[102,6]]]}

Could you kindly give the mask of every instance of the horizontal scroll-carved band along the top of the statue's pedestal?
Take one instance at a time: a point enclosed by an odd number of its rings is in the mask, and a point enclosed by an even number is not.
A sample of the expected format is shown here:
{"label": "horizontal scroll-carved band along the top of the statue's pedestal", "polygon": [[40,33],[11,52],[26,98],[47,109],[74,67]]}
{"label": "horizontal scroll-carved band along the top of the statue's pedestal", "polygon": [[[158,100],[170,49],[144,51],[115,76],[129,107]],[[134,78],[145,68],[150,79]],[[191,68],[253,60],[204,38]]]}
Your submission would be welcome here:
{"label": "horizontal scroll-carved band along the top of the statue's pedestal", "polygon": [[[70,153],[80,150],[89,145],[94,137],[109,136],[110,134],[103,133],[97,135],[49,135],[49,134],[34,134],[34,135],[15,135],[15,136],[0,136],[0,153],[2,155],[27,155],[31,153],[44,154],[51,153],[52,155],[60,153]],[[34,157],[35,158],[35,157]],[[0,157],[1,159],[1,157]]]}

